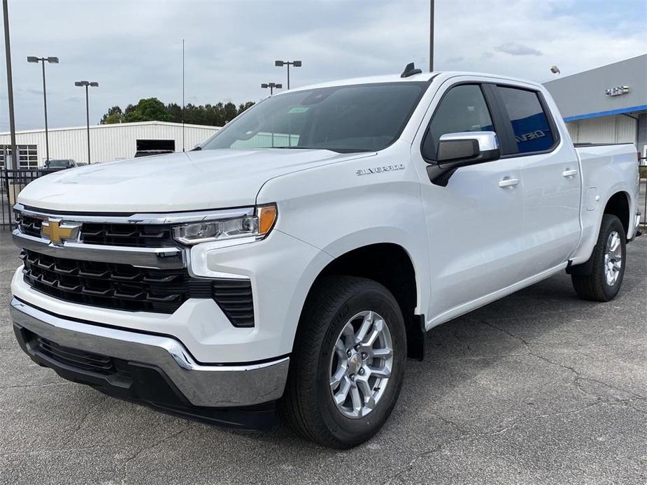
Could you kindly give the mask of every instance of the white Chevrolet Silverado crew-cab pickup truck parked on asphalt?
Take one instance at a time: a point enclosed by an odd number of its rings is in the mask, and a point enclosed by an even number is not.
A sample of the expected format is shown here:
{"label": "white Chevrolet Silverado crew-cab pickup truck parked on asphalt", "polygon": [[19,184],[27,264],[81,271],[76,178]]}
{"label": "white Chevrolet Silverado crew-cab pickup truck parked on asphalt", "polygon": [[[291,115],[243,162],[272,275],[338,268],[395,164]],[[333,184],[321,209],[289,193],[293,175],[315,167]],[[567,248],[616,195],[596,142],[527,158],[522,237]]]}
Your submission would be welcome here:
{"label": "white Chevrolet Silverado crew-cab pickup truck parked on asphalt", "polygon": [[410,64],[291,89],[191,152],[25,187],[15,334],[112,396],[238,428],[276,407],[352,447],[430,328],[564,270],[616,296],[638,190],[634,145],[574,147],[534,82]]}

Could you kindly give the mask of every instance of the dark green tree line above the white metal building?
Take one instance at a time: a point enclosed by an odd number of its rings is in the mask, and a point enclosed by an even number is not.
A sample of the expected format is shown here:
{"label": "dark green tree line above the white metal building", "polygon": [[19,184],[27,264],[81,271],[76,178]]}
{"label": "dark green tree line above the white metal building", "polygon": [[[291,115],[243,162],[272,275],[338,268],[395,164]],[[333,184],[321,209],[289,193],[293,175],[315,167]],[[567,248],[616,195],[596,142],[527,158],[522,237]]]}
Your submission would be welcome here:
{"label": "dark green tree line above the white metal building", "polygon": [[[253,106],[253,101],[241,103],[217,103],[196,106],[187,104],[184,108],[184,122],[187,124],[207,124],[225,126],[244,110]],[[140,99],[137,104],[129,104],[125,110],[113,106],[101,117],[101,124],[133,123],[143,121],[182,122],[182,106],[177,103],[164,104],[157,98]]]}

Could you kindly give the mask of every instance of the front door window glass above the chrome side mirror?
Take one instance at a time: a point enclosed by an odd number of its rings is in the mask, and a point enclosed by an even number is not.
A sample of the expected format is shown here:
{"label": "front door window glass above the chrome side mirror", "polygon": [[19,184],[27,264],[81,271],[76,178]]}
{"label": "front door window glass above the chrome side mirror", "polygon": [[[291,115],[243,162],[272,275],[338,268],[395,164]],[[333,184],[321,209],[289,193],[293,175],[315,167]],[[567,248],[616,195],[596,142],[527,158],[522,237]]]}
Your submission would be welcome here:
{"label": "front door window glass above the chrome side mirror", "polygon": [[422,144],[425,158],[436,159],[441,136],[461,131],[495,131],[490,110],[478,85],[453,87],[443,97]]}

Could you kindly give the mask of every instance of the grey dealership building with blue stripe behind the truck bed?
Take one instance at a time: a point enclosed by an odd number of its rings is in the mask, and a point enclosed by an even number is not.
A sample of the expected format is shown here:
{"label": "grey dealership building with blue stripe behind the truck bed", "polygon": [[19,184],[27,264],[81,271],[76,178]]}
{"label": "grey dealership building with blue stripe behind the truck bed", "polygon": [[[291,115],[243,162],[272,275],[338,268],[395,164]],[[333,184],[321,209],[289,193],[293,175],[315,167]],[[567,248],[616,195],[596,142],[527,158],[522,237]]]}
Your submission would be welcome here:
{"label": "grey dealership building with blue stripe behind the truck bed", "polygon": [[636,143],[647,157],[647,55],[545,82],[576,143]]}

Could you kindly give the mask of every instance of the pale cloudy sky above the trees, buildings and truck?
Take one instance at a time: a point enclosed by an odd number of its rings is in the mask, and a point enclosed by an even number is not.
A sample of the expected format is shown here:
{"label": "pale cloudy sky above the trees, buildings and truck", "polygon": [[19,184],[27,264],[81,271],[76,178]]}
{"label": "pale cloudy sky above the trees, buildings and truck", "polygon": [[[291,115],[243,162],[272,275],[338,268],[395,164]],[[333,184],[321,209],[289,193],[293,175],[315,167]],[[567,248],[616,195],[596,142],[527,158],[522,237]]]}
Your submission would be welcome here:
{"label": "pale cloudy sky above the trees, buildings and truck", "polygon": [[[257,101],[283,82],[276,59],[303,62],[292,87],[429,68],[428,0],[103,1],[8,0],[17,130],[41,129],[41,68],[48,64],[48,124],[85,125],[141,98]],[[645,0],[436,0],[434,70],[483,71],[545,82],[647,52]],[[8,131],[5,63],[0,131]]]}

